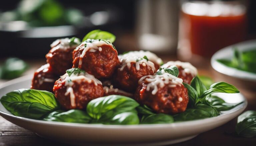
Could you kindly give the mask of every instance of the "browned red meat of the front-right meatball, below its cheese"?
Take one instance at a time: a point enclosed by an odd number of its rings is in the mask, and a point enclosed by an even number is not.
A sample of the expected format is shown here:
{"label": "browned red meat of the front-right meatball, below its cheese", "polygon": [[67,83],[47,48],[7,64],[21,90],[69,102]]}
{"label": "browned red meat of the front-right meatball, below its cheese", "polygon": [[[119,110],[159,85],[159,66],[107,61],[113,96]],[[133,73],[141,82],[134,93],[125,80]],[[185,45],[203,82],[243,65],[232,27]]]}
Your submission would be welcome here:
{"label": "browned red meat of the front-right meatball, below its cheese", "polygon": [[188,92],[183,84],[164,84],[157,85],[157,91],[154,88],[147,89],[148,81],[145,77],[139,82],[135,92],[135,100],[140,104],[147,105],[157,113],[176,114],[186,110],[188,104]]}

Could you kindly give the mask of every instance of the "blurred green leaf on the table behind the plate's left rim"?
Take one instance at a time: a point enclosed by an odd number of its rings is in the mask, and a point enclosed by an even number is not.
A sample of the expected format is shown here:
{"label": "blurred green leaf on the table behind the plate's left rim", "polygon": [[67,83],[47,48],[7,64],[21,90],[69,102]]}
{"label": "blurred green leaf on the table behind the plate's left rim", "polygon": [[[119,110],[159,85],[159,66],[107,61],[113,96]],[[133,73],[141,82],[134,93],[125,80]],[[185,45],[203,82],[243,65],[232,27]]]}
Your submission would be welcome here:
{"label": "blurred green leaf on the table behind the plate's left rim", "polygon": [[28,65],[21,59],[8,58],[1,67],[0,78],[13,79],[21,76],[28,69]]}

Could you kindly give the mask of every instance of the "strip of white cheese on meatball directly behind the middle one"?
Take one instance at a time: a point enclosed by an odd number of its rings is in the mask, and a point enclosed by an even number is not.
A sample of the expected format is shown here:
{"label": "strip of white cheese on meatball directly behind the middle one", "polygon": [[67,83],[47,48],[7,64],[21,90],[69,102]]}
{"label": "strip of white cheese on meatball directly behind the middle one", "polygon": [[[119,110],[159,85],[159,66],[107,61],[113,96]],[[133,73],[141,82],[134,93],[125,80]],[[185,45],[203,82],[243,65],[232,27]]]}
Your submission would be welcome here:
{"label": "strip of white cheese on meatball directly behind the middle one", "polygon": [[126,54],[121,54],[118,57],[119,58],[126,58],[127,56],[135,56],[138,58],[143,58],[144,56],[147,56],[148,60],[154,63],[157,63],[158,65],[161,65],[163,63],[162,59],[157,57],[154,53],[149,51],[130,51]]}

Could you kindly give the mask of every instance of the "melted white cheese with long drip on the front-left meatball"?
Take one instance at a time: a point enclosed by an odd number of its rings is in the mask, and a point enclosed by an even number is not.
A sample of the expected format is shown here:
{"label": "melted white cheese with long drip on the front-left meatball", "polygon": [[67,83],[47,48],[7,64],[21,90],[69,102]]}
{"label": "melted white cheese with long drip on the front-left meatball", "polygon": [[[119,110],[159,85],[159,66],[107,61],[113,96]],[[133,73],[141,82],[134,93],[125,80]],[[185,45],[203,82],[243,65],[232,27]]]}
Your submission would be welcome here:
{"label": "melted white cheese with long drip on the front-left meatball", "polygon": [[79,74],[72,73],[70,76],[67,73],[64,75],[66,75],[66,78],[64,79],[64,81],[65,81],[65,86],[67,86],[67,91],[65,95],[68,95],[70,93],[70,103],[71,103],[71,106],[73,107],[76,106],[75,94],[72,88],[74,81],[80,83],[82,80],[86,80],[88,83],[93,82],[95,85],[102,84],[101,81],[99,81],[97,78],[94,77],[94,75],[91,75],[86,72],[82,72]]}

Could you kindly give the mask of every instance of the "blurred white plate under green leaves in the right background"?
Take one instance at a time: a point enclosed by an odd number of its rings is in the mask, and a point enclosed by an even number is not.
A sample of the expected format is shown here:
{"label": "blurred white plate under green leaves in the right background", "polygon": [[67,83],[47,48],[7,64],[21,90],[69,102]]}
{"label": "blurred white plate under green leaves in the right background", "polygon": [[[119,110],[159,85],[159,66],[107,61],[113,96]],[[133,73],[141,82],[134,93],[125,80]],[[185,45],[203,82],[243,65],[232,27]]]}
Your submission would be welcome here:
{"label": "blurred white plate under green leaves in the right background", "polygon": [[211,58],[211,65],[213,69],[216,70],[217,72],[220,72],[229,76],[250,80],[250,81],[256,81],[255,73],[249,73],[249,72],[237,70],[235,68],[231,68],[217,62],[218,59],[231,59],[233,57],[234,47],[236,47],[239,51],[252,50],[256,48],[256,40],[250,40],[250,41],[234,44],[217,51]]}

